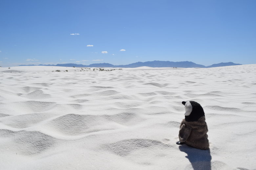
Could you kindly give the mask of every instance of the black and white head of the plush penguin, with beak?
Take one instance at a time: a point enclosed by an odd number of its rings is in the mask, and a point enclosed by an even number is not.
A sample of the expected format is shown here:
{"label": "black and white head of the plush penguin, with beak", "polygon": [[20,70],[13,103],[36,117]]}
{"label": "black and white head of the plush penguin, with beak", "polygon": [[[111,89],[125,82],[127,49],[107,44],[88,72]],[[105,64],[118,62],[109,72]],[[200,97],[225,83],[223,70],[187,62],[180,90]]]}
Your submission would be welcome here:
{"label": "black and white head of the plush penguin, with beak", "polygon": [[197,121],[200,117],[204,116],[204,111],[202,106],[194,101],[182,102],[185,106],[185,121],[193,122]]}

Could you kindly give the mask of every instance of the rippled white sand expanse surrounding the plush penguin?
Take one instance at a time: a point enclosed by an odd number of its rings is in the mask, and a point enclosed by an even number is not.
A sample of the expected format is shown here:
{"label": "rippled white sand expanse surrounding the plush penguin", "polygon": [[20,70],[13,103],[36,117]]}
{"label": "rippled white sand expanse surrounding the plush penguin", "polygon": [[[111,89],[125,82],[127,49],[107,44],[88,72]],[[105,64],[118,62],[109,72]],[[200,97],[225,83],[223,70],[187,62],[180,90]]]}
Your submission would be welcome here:
{"label": "rippled white sand expanse surrounding the plush penguin", "polygon": [[[255,77],[256,64],[0,68],[0,169],[255,169]],[[188,100],[209,150],[176,144]]]}

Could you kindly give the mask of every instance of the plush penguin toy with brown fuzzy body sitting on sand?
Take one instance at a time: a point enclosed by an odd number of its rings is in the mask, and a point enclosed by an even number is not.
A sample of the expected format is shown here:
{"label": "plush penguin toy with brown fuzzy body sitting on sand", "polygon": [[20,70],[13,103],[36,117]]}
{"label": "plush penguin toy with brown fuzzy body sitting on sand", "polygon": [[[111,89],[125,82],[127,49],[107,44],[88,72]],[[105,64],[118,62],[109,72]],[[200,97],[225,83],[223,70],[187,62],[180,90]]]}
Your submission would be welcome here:
{"label": "plush penguin toy with brown fuzzy body sitting on sand", "polygon": [[207,124],[202,106],[194,101],[182,102],[185,119],[182,120],[179,140],[176,144],[187,144],[198,149],[209,149]]}

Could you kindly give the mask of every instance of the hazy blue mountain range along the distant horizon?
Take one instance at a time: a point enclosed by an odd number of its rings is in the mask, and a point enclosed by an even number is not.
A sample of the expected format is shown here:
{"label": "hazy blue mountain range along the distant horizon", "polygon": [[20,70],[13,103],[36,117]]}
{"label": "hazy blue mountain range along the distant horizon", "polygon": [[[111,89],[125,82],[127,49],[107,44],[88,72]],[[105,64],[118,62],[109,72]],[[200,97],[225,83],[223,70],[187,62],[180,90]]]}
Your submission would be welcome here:
{"label": "hazy blue mountain range along the distant horizon", "polygon": [[[179,62],[173,62],[173,61],[146,61],[146,62],[135,62],[132,64],[127,65],[113,65],[109,63],[98,63],[98,64],[90,64],[90,65],[82,65],[82,64],[56,64],[56,65],[44,65],[39,64],[40,66],[62,66],[62,67],[121,67],[121,68],[135,68],[135,67],[180,67],[180,68],[192,68],[192,67],[199,67],[199,68],[210,68],[210,67],[222,67],[222,66],[230,66],[230,65],[242,65],[242,64],[236,64],[233,62],[221,62],[218,64],[212,64],[210,66],[204,66],[200,64],[196,64],[191,61],[179,61]],[[19,65],[19,66],[35,66],[35,65]]]}

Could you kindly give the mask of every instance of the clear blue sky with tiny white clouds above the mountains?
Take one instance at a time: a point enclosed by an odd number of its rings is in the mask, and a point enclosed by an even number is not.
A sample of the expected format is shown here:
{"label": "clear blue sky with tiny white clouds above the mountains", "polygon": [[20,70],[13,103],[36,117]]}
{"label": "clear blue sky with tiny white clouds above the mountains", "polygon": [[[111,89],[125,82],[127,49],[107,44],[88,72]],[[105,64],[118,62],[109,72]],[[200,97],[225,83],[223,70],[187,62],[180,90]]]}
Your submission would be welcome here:
{"label": "clear blue sky with tiny white clouds above the mountains", "polygon": [[255,0],[1,0],[0,66],[255,64],[255,7]]}

